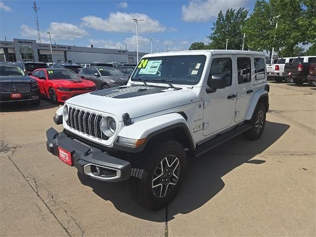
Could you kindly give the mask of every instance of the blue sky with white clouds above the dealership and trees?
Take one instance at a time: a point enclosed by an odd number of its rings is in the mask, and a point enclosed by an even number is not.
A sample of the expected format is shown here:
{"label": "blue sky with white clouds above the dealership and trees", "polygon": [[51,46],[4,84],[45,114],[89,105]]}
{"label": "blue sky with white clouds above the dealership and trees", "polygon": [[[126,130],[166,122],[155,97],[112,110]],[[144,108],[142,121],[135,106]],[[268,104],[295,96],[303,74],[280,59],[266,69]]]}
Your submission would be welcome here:
{"label": "blue sky with white clouds above the dealership and trees", "polygon": [[[135,23],[139,22],[140,51],[187,49],[192,42],[206,41],[220,9],[245,7],[254,0],[37,0],[41,41],[46,31],[53,42],[76,46],[136,49]],[[37,40],[32,0],[0,1],[0,40]]]}

